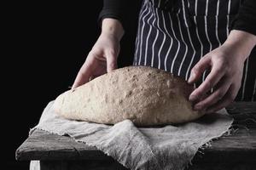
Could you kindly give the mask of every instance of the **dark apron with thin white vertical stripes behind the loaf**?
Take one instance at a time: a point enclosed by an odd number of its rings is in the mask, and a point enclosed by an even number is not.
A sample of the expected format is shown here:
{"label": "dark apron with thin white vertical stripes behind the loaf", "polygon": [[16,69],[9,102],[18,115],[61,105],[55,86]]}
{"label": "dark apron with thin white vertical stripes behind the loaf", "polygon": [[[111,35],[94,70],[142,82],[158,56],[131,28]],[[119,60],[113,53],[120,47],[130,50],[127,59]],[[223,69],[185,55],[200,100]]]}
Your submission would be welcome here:
{"label": "dark apron with thin white vertical stripes behind the loaf", "polygon": [[[241,0],[144,0],[133,65],[170,71],[188,80],[205,54],[224,43]],[[256,48],[244,63],[236,100],[256,100]],[[207,71],[197,86],[205,80]]]}

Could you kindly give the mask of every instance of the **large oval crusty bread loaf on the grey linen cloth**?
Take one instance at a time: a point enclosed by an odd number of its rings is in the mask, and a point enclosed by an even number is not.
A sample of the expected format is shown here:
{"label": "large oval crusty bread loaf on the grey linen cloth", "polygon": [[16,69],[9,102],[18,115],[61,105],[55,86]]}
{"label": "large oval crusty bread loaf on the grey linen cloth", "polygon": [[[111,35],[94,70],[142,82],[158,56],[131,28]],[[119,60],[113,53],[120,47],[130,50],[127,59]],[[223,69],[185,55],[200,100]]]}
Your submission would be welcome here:
{"label": "large oval crusty bread loaf on the grey linen cloth", "polygon": [[97,77],[55,99],[55,112],[67,119],[137,126],[190,122],[204,113],[192,110],[193,91],[182,78],[148,66],[128,66]]}

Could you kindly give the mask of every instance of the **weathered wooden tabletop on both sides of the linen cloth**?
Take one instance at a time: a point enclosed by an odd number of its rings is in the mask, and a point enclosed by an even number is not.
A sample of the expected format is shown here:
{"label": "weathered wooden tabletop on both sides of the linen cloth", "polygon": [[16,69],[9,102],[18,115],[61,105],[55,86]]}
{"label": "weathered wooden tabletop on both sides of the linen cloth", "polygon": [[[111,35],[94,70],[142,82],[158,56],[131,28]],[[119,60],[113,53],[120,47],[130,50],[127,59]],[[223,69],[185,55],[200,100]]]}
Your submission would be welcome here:
{"label": "weathered wooden tabletop on both sides of the linen cloth", "polygon": [[[227,110],[235,117],[236,133],[212,142],[212,146],[198,152],[193,160],[200,162],[254,162],[256,160],[256,102],[234,103]],[[242,159],[241,159],[242,157]],[[16,150],[17,160],[84,160],[114,161],[96,147],[75,142],[59,136],[36,130]]]}

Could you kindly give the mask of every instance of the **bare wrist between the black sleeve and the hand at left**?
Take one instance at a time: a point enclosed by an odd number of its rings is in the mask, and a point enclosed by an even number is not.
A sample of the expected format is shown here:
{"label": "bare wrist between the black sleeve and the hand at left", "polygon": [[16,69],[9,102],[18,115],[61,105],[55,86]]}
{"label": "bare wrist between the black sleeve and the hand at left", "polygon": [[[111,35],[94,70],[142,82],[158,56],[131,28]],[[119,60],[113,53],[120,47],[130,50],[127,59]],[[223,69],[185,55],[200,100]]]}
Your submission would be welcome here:
{"label": "bare wrist between the black sleeve and the hand at left", "polygon": [[112,18],[102,20],[102,34],[112,35],[120,41],[124,33],[124,28],[119,20]]}

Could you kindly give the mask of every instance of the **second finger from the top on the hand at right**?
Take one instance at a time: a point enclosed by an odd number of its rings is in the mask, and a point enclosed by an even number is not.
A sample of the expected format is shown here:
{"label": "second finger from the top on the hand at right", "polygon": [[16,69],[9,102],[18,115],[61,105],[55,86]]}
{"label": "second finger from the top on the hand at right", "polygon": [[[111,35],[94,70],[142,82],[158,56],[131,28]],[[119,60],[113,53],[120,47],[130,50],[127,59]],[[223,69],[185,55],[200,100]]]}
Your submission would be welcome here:
{"label": "second finger from the top on the hand at right", "polygon": [[206,80],[189,95],[189,100],[193,101],[201,95],[206,94],[223,76],[224,71],[222,71],[221,65],[212,65],[212,71],[209,73]]}

